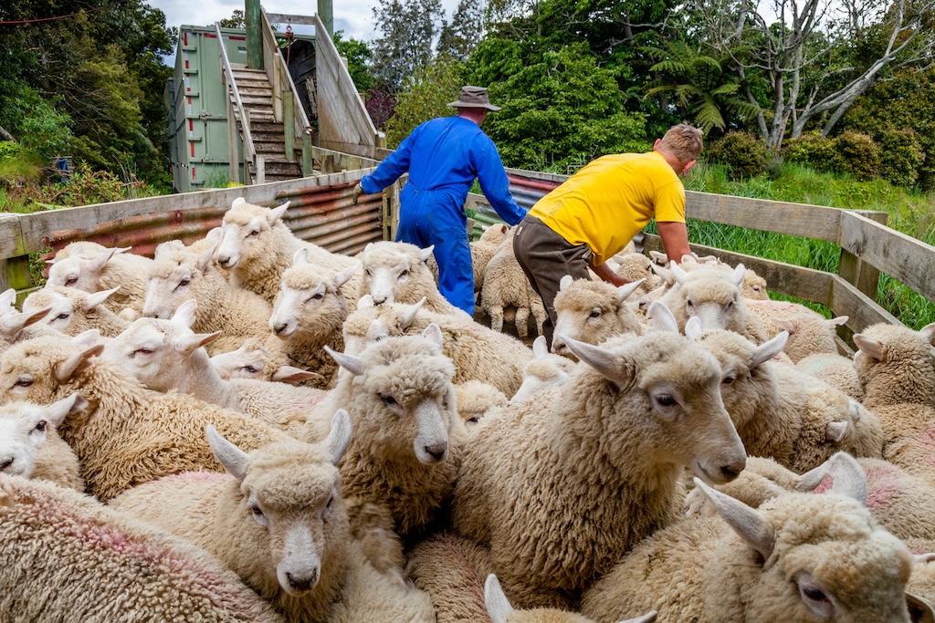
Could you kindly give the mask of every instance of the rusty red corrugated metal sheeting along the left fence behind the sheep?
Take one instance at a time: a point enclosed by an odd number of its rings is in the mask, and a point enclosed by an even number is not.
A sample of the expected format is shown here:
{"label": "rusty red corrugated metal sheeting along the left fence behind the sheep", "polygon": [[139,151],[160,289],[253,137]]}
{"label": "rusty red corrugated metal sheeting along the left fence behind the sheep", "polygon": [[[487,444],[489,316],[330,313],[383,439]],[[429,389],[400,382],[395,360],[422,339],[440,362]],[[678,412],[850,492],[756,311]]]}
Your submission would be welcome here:
{"label": "rusty red corrugated metal sheeting along the left fence behind the sheep", "polygon": [[[383,236],[382,196],[362,195],[357,205],[352,205],[352,187],[353,183],[280,191],[274,204],[291,202],[283,221],[299,238],[334,253],[352,255],[363,250],[367,243],[382,240]],[[179,195],[180,203],[184,203],[184,199],[185,195]],[[55,251],[79,240],[105,247],[133,247],[134,253],[152,257],[156,246],[166,240],[180,239],[190,245],[205,237],[221,224],[228,207],[180,208],[52,232],[45,236],[44,242],[54,251],[42,259],[53,257]]]}

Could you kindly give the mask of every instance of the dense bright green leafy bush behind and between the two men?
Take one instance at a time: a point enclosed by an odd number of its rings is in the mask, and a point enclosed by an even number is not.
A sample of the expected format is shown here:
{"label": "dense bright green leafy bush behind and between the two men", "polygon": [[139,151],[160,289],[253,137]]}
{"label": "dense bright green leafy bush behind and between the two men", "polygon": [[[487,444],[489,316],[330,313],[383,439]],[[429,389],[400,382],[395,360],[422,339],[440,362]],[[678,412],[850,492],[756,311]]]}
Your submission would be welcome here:
{"label": "dense bright green leafy bush behind and between the two men", "polygon": [[508,166],[564,167],[584,157],[644,150],[641,115],[626,112],[610,70],[585,44],[564,47],[486,39],[468,82],[488,86],[503,110],[484,122]]}

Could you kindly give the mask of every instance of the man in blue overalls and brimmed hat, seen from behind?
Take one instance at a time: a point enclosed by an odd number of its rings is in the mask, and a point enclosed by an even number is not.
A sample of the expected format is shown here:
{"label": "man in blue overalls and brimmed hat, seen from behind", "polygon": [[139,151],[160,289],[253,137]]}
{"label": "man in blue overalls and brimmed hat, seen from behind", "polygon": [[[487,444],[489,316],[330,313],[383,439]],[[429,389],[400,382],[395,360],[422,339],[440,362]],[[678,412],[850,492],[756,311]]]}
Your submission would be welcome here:
{"label": "man in blue overalls and brimmed hat, seen from behind", "polygon": [[380,192],[409,171],[409,182],[399,195],[396,241],[420,248],[435,245],[441,294],[473,314],[474,270],[464,205],[474,178],[501,219],[515,225],[526,211],[513,201],[496,145],[481,130],[487,111],[500,109],[490,104],[487,90],[464,87],[458,101],[448,106],[456,107],[457,115],[425,121],[413,130],[354,187],[353,202],[361,192]]}

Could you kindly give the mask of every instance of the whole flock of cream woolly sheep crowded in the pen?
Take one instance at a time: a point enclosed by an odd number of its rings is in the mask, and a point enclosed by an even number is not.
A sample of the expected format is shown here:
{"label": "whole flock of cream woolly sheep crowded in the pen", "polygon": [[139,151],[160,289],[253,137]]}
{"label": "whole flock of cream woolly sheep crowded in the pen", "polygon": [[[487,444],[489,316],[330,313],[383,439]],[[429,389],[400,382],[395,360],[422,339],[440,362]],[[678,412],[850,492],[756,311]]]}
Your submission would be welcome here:
{"label": "whole flock of cream woolly sheep crowded in the pen", "polygon": [[286,209],[0,295],[0,620],[935,621],[935,324],[631,253],[549,352],[506,226],[491,329]]}

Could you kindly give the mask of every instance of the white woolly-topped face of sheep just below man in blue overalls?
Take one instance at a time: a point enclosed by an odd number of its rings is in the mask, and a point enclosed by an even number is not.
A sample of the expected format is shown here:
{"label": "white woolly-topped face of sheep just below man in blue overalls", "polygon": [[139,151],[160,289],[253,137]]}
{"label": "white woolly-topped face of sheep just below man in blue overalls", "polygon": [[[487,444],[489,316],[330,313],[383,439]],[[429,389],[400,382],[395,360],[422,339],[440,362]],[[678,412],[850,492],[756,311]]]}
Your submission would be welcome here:
{"label": "white woolly-topped face of sheep just below man in blue overalls", "polygon": [[376,305],[395,303],[410,281],[425,281],[429,274],[425,261],[433,248],[420,249],[415,245],[378,242],[367,245],[362,254],[364,262],[363,292],[370,294]]}

